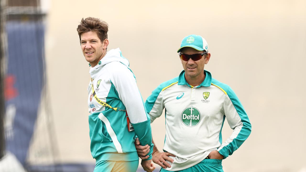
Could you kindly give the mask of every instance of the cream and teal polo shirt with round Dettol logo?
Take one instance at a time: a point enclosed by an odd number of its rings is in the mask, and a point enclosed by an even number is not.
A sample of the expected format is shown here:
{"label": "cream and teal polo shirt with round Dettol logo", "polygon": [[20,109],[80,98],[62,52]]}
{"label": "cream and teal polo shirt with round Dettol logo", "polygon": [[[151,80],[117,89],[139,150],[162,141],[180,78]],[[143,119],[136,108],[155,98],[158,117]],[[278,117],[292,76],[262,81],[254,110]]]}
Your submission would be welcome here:
{"label": "cream and teal polo shirt with round Dettol logo", "polygon": [[[177,171],[201,162],[217,150],[224,159],[232,155],[251,133],[251,124],[241,102],[226,84],[211,77],[204,70],[202,84],[192,87],[179,77],[160,84],[148,97],[145,105],[151,123],[166,108],[166,136],[164,151],[176,155],[171,168]],[[222,142],[221,131],[225,118],[233,129]]]}

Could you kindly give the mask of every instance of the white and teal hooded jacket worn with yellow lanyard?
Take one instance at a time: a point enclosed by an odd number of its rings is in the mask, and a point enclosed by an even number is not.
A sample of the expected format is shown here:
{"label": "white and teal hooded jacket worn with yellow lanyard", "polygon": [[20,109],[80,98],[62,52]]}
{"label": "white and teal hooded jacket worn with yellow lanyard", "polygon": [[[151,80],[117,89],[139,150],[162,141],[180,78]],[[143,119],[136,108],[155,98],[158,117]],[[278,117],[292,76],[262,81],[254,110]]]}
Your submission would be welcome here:
{"label": "white and teal hooded jacket worn with yellow lanyard", "polygon": [[138,160],[133,144],[137,135],[141,145],[150,145],[147,155],[151,159],[150,117],[129,61],[117,48],[108,51],[100,62],[89,71],[88,122],[92,157],[96,162]]}

